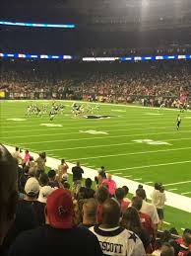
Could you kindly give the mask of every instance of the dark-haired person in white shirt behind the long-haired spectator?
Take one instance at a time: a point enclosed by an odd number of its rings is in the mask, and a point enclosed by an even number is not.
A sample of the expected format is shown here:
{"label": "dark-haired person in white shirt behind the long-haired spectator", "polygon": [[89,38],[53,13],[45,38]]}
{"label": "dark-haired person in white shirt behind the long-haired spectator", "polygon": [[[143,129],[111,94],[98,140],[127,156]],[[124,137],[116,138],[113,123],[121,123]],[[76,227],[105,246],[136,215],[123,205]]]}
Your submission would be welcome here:
{"label": "dark-haired person in white shirt behind the long-haired spectator", "polygon": [[143,200],[141,213],[147,213],[151,216],[153,227],[154,227],[154,233],[155,233],[155,236],[157,236],[159,215],[158,215],[156,206],[146,201],[147,196],[144,189],[137,189],[136,196]]}

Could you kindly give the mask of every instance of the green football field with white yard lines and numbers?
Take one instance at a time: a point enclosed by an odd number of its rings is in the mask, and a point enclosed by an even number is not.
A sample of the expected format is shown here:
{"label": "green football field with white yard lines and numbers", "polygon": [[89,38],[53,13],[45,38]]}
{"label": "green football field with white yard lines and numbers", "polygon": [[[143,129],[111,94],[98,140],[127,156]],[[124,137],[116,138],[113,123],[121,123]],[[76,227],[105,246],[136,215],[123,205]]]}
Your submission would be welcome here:
{"label": "green football field with white yard lines and numbers", "polygon": [[[91,168],[104,165],[117,176],[148,185],[158,181],[166,191],[191,197],[191,112],[181,114],[176,130],[175,110],[105,104],[99,114],[109,119],[86,119],[75,118],[71,104],[64,102],[64,115],[50,122],[48,115],[27,117],[29,102],[1,101],[1,142],[69,162],[79,159]],[[166,207],[165,215],[171,226],[191,226],[190,213]]]}

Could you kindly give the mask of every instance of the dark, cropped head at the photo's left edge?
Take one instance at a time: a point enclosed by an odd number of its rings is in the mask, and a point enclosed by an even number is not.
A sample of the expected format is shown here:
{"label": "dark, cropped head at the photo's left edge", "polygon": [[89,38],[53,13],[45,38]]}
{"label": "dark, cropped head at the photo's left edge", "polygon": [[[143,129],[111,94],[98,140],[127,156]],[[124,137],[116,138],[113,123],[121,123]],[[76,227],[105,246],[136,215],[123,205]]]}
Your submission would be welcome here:
{"label": "dark, cropped head at the photo's left edge", "polygon": [[18,201],[17,164],[9,151],[0,144],[0,244],[10,228]]}

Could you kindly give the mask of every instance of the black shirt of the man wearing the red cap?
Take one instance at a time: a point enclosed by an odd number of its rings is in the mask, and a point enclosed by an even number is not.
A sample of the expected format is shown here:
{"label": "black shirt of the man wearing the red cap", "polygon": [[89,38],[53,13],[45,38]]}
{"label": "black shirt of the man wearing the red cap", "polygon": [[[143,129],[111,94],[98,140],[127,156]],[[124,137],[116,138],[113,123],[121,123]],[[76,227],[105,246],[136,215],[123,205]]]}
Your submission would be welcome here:
{"label": "black shirt of the man wearing the red cap", "polygon": [[96,235],[87,228],[56,229],[49,225],[23,232],[9,256],[102,256]]}

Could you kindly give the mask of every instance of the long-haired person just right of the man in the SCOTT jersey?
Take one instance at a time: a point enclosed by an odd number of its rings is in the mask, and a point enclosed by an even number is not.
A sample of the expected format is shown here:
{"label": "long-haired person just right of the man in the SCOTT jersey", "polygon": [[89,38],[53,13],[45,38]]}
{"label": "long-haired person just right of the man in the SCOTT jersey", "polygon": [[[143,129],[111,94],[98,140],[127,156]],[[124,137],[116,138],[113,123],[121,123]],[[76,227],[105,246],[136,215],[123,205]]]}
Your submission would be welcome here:
{"label": "long-haired person just right of the man in the SCOTT jersey", "polygon": [[126,212],[123,213],[121,226],[136,233],[142,240],[146,252],[152,252],[150,235],[147,230],[143,228],[139,214],[135,208],[128,208]]}

